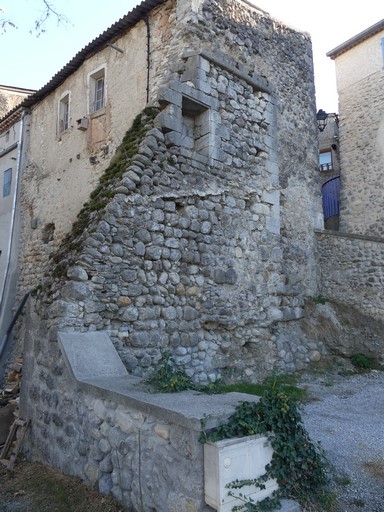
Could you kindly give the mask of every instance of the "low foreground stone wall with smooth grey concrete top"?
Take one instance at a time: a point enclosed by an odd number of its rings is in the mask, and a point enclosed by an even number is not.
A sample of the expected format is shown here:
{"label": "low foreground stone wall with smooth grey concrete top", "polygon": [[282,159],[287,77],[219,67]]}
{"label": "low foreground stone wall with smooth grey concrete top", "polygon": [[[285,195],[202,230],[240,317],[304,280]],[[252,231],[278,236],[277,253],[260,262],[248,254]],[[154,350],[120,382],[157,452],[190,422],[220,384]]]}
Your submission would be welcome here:
{"label": "low foreground stone wall with smooth grey concrete top", "polygon": [[[43,329],[40,334],[44,336]],[[206,416],[206,428],[213,428],[239,401],[257,397],[150,394],[142,382],[116,367],[114,375],[108,373],[100,352],[90,348],[103,345],[104,358],[110,357],[100,334],[69,335],[72,349],[78,341],[75,365],[64,362],[65,342],[61,349],[57,343],[45,345],[44,354],[37,340],[29,346],[25,361],[37,358],[39,369],[23,377],[20,412],[31,420],[26,455],[112,494],[128,510],[212,511],[204,503],[201,420]],[[82,346],[87,348],[82,351]],[[82,358],[85,371],[75,367]]]}

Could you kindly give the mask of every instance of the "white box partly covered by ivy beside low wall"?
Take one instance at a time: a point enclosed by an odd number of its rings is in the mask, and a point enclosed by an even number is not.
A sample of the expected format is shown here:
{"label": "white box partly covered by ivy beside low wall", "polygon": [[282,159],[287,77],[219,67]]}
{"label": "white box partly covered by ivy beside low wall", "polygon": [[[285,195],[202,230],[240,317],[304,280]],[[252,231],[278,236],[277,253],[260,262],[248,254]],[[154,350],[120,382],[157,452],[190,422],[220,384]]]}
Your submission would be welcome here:
{"label": "white box partly covered by ivy beside low wall", "polygon": [[[241,502],[229,496],[225,486],[235,480],[254,479],[265,473],[273,448],[265,436],[223,439],[204,444],[205,502],[218,512],[231,512]],[[278,488],[276,480],[268,480],[265,489],[247,486],[239,489],[244,496],[261,501]]]}

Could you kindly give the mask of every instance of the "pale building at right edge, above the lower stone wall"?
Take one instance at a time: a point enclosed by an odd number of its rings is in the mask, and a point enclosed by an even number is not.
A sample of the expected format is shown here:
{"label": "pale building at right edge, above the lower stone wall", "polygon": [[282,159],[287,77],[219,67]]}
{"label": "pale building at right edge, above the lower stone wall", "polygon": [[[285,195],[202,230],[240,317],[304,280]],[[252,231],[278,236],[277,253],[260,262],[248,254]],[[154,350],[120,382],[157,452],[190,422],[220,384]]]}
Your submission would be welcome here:
{"label": "pale building at right edge, above the lower stone wall", "polygon": [[384,20],[328,52],[340,113],[344,232],[383,237]]}

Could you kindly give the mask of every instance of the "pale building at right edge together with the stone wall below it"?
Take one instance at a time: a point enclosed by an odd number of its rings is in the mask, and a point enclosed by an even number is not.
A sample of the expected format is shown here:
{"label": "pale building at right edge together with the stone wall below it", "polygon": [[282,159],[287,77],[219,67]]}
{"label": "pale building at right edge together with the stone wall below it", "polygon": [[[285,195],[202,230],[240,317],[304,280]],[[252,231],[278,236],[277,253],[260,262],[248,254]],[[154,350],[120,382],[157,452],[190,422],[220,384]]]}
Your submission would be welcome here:
{"label": "pale building at right edge together with the stone wall below it", "polygon": [[[340,231],[318,232],[327,346],[382,359],[384,21],[328,52],[339,95]],[[328,311],[327,311],[328,308]],[[324,326],[323,326],[323,332]]]}

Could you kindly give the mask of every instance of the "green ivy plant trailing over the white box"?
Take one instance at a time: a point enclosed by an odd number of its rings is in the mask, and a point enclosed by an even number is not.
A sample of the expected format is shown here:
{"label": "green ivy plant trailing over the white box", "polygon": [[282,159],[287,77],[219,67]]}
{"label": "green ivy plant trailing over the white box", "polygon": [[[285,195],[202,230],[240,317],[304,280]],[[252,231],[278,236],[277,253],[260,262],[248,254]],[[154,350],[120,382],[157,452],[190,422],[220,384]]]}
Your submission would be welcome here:
{"label": "green ivy plant trailing over the white box", "polygon": [[[207,433],[202,441],[250,435],[265,435],[273,447],[271,463],[259,478],[234,481],[227,485],[229,495],[240,503],[233,511],[265,511],[279,507],[281,498],[300,503],[316,503],[328,492],[330,465],[319,444],[312,443],[306,432],[297,400],[279,387],[268,388],[257,403],[242,402],[227,423]],[[260,502],[244,496],[241,489],[254,485],[265,488],[265,482],[276,479],[279,485],[271,497]],[[324,509],[323,509],[324,510]]]}

